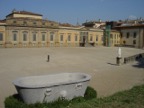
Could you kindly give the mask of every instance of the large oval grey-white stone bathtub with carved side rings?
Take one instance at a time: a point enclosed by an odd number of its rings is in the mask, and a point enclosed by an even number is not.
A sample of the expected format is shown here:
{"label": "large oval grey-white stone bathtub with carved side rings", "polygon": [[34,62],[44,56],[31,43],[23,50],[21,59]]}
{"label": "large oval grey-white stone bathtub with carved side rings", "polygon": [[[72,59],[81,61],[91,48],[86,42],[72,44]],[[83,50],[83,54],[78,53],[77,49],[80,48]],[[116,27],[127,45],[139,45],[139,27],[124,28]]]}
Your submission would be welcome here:
{"label": "large oval grey-white stone bathtub with carved side rings", "polygon": [[18,78],[13,84],[23,101],[33,104],[84,96],[90,78],[84,73],[61,73]]}

